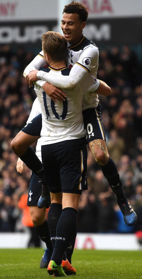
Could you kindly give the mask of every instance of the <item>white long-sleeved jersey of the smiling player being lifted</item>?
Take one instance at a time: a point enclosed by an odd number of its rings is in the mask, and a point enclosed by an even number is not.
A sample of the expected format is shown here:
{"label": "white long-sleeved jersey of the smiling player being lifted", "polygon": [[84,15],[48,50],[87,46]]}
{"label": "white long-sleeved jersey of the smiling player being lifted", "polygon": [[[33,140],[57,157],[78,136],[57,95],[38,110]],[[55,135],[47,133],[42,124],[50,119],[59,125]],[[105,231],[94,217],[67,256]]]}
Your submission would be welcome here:
{"label": "white long-sleeved jersey of the smiling player being lifted", "polygon": [[[43,58],[42,51],[39,55]],[[49,77],[47,76],[47,73],[43,73],[42,71],[40,71],[37,74],[37,77],[41,78],[42,80],[49,81],[50,83],[62,89],[72,90],[72,86],[77,86],[77,84],[80,83],[85,77],[86,80],[90,75],[93,75],[96,78],[98,69],[98,58],[98,48],[91,40],[83,36],[78,44],[73,46],[68,44],[68,55],[66,58],[66,62],[67,67],[71,69],[69,76],[55,77],[55,75],[53,74]],[[78,72],[80,73],[79,75]],[[94,83],[95,82],[96,79],[94,79]],[[98,88],[96,87],[96,90],[97,89]],[[90,94],[88,90],[88,92],[84,94],[82,110],[97,107],[99,100],[96,93],[97,92],[93,92]]]}

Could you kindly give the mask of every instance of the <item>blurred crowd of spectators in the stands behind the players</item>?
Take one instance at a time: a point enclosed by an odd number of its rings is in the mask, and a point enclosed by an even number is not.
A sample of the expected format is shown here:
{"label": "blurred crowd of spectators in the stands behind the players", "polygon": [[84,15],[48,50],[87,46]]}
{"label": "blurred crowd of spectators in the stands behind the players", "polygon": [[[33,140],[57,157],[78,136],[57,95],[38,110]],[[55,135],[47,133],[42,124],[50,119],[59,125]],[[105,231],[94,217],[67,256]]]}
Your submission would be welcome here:
{"label": "blurred crowd of spectators in the stands behind the players", "polygon": [[[25,230],[19,201],[28,193],[31,171],[24,166],[24,173],[17,173],[10,142],[26,124],[36,98],[23,77],[34,56],[23,48],[13,51],[8,45],[0,46],[0,232]],[[88,149],[88,191],[79,203],[78,232],[142,230],[141,75],[139,60],[128,46],[100,51],[97,78],[111,87],[111,96],[99,96],[106,143],[125,195],[138,215],[137,224],[125,225],[116,197]]]}

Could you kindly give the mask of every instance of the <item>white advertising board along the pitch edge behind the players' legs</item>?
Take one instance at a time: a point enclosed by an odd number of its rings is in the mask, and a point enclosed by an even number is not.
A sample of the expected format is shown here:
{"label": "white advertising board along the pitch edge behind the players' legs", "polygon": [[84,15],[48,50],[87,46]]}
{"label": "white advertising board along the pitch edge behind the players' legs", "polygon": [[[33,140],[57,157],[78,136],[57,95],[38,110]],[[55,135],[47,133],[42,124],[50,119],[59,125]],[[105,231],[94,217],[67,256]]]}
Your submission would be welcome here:
{"label": "white advertising board along the pitch edge behind the players' legs", "polygon": [[[0,248],[27,248],[30,233],[0,233]],[[42,247],[45,243],[41,241]],[[134,234],[77,233],[74,248],[96,250],[139,250]]]}

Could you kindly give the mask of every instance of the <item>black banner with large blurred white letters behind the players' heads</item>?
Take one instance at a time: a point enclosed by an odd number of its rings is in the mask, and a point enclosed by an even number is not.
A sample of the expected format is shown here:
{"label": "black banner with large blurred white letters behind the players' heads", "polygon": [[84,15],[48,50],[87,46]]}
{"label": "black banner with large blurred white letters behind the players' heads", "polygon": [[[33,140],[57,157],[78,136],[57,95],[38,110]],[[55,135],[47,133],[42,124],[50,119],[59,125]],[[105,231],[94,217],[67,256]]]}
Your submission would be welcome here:
{"label": "black banner with large blurred white letters behind the players' heads", "polygon": [[[6,22],[0,26],[0,44],[37,44],[47,31],[58,31],[57,21]],[[61,31],[62,33],[62,31]],[[88,19],[84,35],[100,44],[138,44],[142,42],[142,19]]]}

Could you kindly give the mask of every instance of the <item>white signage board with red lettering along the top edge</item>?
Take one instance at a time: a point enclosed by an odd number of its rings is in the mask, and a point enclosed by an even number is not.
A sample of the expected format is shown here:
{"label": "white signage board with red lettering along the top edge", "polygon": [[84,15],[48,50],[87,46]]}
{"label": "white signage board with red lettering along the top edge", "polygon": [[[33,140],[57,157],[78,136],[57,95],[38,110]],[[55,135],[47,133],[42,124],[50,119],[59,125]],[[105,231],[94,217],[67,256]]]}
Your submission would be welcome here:
{"label": "white signage board with red lettering along the top edge", "polygon": [[[142,0],[82,0],[89,18],[142,17]],[[0,0],[0,21],[45,21],[57,19],[59,0]],[[60,4],[61,5],[61,4]]]}

